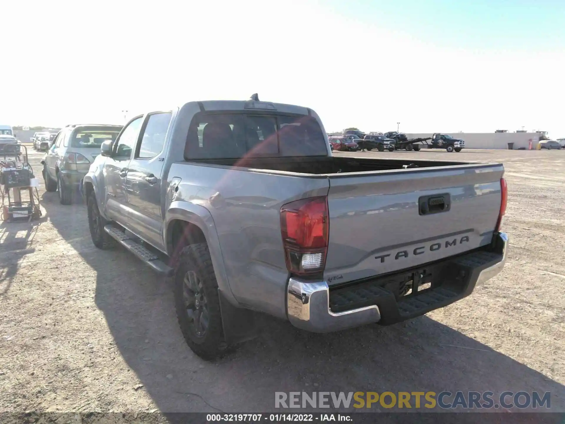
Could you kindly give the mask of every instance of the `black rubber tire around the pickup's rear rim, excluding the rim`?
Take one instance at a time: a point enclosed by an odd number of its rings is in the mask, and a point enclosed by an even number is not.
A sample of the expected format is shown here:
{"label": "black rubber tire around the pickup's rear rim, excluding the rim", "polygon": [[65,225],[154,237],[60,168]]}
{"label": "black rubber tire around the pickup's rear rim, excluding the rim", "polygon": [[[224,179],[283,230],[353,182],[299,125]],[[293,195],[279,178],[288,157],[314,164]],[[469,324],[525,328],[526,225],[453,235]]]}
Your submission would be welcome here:
{"label": "black rubber tire around the pickup's rear rim, excluding the rim", "polygon": [[[186,313],[183,286],[185,275],[189,271],[194,271],[201,280],[206,296],[208,327],[203,336],[197,336],[193,332],[192,321]],[[218,282],[206,243],[191,244],[180,252],[175,270],[175,309],[182,335],[195,354],[205,360],[214,360],[227,352],[228,344],[225,343],[221,321]]]}

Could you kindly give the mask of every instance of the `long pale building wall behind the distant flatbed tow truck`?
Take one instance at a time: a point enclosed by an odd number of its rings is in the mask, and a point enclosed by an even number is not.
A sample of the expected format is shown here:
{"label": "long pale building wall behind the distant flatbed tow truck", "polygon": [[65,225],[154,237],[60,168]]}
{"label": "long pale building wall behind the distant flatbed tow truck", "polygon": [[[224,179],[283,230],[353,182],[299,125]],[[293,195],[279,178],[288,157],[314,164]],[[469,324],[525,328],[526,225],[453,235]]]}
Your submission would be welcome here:
{"label": "long pale building wall behind the distant flatbed tow truck", "polygon": [[[508,149],[509,142],[514,143],[514,149],[529,148],[529,140],[532,140],[532,149],[536,148],[540,140],[537,132],[454,132],[449,134],[454,139],[465,141],[466,149]],[[431,137],[430,133],[406,134],[408,139],[416,137]]]}

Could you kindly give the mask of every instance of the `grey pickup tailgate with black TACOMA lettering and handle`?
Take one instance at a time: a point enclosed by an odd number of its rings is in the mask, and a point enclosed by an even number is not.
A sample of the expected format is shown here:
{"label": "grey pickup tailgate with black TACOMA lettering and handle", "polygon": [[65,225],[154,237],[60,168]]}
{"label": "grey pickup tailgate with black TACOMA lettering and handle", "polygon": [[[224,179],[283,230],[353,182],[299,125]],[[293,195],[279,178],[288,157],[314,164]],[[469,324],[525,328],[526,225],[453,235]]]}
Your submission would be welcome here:
{"label": "grey pickup tailgate with black TACOMA lettering and handle", "polygon": [[[501,206],[503,172],[501,164],[468,164],[329,175],[328,284],[399,271],[489,244]],[[449,208],[442,210],[441,202]],[[421,214],[421,207],[428,213]]]}

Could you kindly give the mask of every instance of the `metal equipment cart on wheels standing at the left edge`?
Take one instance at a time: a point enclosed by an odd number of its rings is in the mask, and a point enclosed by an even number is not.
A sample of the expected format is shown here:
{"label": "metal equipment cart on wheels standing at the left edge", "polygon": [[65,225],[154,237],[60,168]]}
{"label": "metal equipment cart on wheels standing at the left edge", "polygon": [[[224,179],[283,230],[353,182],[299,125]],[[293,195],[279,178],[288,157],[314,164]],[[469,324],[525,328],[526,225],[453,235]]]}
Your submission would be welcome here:
{"label": "metal equipment cart on wheels standing at the left edge", "polygon": [[[29,222],[41,216],[37,180],[28,162],[28,149],[20,144],[3,145],[0,154],[2,220]],[[21,148],[25,160],[21,161]]]}

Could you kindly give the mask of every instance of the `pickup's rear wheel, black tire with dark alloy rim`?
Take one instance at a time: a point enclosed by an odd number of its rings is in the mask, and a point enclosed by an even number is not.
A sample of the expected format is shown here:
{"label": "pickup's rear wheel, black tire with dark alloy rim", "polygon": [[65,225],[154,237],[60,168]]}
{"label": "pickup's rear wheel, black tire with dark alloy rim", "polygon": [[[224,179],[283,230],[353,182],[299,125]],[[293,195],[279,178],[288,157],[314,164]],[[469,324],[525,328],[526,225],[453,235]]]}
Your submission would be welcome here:
{"label": "pickup's rear wheel, black tire with dark alloy rim", "polygon": [[175,271],[175,309],[189,348],[206,360],[227,350],[221,321],[218,282],[206,243],[182,249]]}

